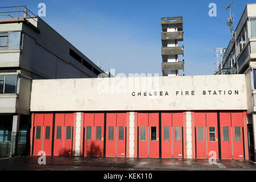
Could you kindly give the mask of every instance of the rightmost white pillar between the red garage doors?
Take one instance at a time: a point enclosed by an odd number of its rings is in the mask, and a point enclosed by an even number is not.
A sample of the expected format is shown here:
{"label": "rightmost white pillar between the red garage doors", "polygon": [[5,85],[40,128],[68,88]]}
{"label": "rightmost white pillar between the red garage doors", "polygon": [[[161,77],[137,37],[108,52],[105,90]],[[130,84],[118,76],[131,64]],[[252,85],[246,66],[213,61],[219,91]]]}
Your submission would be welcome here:
{"label": "rightmost white pillar between the red garage doors", "polygon": [[186,112],[186,131],[187,131],[187,159],[192,159],[192,128],[191,111]]}

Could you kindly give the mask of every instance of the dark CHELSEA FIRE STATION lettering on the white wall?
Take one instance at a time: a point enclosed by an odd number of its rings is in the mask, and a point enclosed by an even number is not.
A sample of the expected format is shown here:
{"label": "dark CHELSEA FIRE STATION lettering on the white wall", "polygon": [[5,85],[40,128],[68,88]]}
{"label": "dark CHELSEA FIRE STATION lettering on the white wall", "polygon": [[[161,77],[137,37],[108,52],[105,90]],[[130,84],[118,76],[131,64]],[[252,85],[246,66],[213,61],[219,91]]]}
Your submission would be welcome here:
{"label": "dark CHELSEA FIRE STATION lettering on the white wall", "polygon": [[[195,96],[196,91],[175,91],[173,95],[175,96]],[[211,96],[211,95],[238,95],[238,90],[203,90],[201,95]],[[158,91],[158,92],[132,92],[132,96],[169,96],[167,91]]]}

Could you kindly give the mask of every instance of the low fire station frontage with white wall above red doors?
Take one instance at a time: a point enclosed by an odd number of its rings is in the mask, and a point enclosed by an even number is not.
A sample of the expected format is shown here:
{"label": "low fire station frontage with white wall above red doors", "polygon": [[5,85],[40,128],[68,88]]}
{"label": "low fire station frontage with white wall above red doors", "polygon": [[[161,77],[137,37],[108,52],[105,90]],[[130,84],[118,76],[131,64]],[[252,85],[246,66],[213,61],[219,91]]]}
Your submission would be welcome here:
{"label": "low fire station frontage with white wall above red doors", "polygon": [[32,80],[31,155],[248,160],[249,83],[246,75]]}

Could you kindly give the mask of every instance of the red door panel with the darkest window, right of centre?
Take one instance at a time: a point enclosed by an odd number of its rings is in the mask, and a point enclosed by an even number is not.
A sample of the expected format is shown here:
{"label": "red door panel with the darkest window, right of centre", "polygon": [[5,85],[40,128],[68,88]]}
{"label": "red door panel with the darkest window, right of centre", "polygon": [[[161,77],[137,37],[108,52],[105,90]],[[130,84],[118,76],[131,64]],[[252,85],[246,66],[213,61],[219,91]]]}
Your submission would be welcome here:
{"label": "red door panel with the darkest window, right of centre", "polygon": [[[151,138],[151,127],[156,127],[156,140]],[[148,113],[148,130],[149,157],[159,158],[159,113]]]}

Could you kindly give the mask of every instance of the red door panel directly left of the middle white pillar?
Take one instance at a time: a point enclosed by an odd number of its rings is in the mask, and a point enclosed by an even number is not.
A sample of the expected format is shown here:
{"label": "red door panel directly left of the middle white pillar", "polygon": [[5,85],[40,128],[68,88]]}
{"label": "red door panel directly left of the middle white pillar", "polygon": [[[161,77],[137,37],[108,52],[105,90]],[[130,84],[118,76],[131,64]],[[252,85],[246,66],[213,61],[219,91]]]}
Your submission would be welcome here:
{"label": "red door panel directly left of the middle white pillar", "polygon": [[[127,114],[117,113],[117,156],[125,157],[125,140],[126,140],[126,123]],[[123,140],[119,140],[119,127],[123,127]]]}

